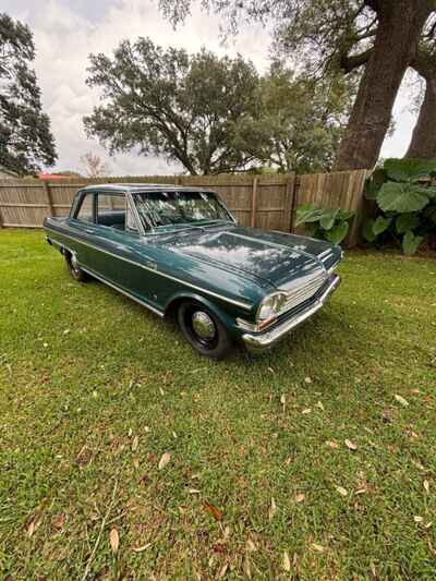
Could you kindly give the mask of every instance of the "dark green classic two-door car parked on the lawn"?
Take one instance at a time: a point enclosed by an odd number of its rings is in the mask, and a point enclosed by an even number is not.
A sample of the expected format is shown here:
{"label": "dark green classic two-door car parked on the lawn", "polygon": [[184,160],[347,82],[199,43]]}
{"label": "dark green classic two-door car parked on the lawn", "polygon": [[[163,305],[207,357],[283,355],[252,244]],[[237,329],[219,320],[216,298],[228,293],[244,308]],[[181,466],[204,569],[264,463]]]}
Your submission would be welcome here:
{"label": "dark green classic two-door car parked on the lawn", "polygon": [[340,246],[242,228],[203,189],[90,185],[77,192],[70,216],[46,218],[44,228],[74,279],[90,276],[174,316],[186,340],[214,359],[235,342],[271,347],[340,281]]}

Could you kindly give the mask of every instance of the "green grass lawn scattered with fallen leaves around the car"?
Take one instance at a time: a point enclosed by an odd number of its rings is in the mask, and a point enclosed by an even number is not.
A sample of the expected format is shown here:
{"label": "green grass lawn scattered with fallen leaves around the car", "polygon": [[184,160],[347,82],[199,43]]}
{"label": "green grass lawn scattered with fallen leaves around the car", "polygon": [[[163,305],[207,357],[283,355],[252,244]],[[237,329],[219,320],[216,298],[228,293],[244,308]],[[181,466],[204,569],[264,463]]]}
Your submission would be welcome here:
{"label": "green grass lawn scattered with fallen leaves around the car", "polygon": [[1,231],[0,578],[433,579],[436,262],[340,274],[276,350],[214,363]]}

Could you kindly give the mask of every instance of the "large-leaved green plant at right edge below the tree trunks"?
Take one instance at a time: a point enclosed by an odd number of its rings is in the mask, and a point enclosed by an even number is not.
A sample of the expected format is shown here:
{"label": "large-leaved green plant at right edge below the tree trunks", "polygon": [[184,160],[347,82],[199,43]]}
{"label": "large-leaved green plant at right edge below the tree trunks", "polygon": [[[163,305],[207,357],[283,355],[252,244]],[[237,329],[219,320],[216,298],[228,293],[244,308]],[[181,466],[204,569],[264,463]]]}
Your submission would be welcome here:
{"label": "large-leaved green plant at right edge below the tree trunks", "polygon": [[387,159],[365,184],[377,204],[377,216],[364,225],[368,242],[395,240],[403,253],[414,254],[436,232],[436,159]]}

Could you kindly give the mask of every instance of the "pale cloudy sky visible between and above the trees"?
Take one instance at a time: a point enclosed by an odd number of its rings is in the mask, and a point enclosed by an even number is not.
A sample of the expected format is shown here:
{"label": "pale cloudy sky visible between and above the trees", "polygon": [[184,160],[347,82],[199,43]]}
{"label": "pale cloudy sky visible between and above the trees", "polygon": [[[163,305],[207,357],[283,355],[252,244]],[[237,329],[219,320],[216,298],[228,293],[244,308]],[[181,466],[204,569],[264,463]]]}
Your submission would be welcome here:
{"label": "pale cloudy sky visible between and above the trees", "polygon": [[[243,25],[237,37],[222,44],[216,15],[194,9],[174,31],[157,8],[157,0],[3,0],[2,9],[27,23],[36,45],[35,69],[43,92],[43,107],[51,120],[59,159],[56,170],[84,171],[80,158],[93,152],[107,160],[112,175],[171,174],[182,167],[134,150],[109,157],[83,130],[82,118],[98,105],[98,92],[86,83],[88,55],[111,53],[124,38],[148,36],[164,47],[196,52],[203,46],[218,55],[251,59],[259,71],[268,65],[269,31]],[[405,84],[404,84],[405,85]],[[401,157],[415,122],[410,112],[410,89],[403,86],[393,109],[395,133],[385,140],[382,157]]]}

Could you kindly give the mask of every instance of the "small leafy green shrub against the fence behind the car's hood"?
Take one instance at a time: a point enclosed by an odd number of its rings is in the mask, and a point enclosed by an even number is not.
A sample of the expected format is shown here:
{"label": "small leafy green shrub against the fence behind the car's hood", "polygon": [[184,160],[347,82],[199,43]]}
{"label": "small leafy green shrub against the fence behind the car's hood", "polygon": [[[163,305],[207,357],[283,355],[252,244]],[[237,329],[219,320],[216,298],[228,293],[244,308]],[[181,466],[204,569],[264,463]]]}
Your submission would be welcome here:
{"label": "small leafy green shrub against the fence behind the car's hood", "polygon": [[346,209],[318,208],[305,204],[296,210],[295,226],[304,223],[307,235],[340,244],[348,234],[354,211]]}

